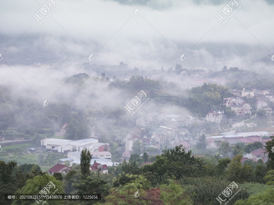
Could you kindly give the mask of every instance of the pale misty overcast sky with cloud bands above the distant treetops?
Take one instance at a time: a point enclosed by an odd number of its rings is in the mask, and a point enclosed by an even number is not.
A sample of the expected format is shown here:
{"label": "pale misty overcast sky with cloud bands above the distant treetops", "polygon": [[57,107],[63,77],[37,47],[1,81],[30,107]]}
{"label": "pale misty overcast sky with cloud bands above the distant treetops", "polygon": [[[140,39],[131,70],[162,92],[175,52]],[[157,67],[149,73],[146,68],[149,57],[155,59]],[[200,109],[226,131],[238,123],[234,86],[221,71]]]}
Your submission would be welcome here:
{"label": "pale misty overcast sky with cloud bands above the distant treetops", "polygon": [[229,3],[224,0],[55,0],[58,8],[40,24],[33,15],[46,2],[1,2],[0,53],[8,64],[50,64],[65,56],[69,63],[85,63],[93,53],[93,62],[123,61],[130,69],[178,62],[189,69],[259,71],[274,54],[274,6],[262,0],[237,1],[241,8],[225,24],[216,17]]}

